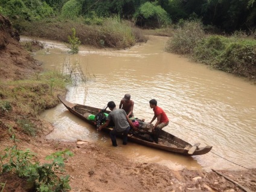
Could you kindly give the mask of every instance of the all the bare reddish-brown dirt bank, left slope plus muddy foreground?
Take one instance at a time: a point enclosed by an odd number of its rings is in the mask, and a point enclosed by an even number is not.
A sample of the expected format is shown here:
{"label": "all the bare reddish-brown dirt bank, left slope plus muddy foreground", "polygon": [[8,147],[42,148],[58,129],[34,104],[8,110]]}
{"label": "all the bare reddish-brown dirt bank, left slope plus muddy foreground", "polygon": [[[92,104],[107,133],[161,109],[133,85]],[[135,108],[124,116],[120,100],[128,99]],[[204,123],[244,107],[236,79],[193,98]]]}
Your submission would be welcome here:
{"label": "all the bare reddish-brown dirt bank, left slope plus muddy foreground", "polygon": [[[1,19],[0,19],[1,21]],[[4,24],[6,25],[6,24]],[[19,45],[19,36],[16,39],[8,33],[11,30],[0,30],[1,42],[1,82],[8,82],[8,86],[0,85],[1,101],[8,101],[5,94],[8,90],[15,93],[21,88],[15,87],[14,83],[19,80],[29,80],[33,75],[43,71],[40,68],[40,62],[37,62],[24,51]],[[16,82],[14,82],[16,81]],[[11,83],[14,82],[14,83]],[[28,81],[27,81],[28,82]],[[40,86],[41,87],[41,86]],[[16,88],[16,89],[14,89]],[[31,85],[31,92],[39,91],[36,86]],[[45,90],[50,91],[51,86],[45,86]],[[53,95],[49,100],[57,100],[54,95],[58,93],[52,89]],[[65,92],[65,88],[59,90]],[[43,93],[43,92],[40,92]],[[28,92],[28,98],[31,98]],[[37,94],[38,95],[38,94]],[[132,159],[126,159],[115,153],[115,149],[105,149],[97,146],[97,143],[89,142],[59,142],[46,139],[54,127],[31,113],[31,110],[25,110],[22,114],[19,107],[25,102],[15,99],[10,102],[11,110],[0,110],[0,150],[1,155],[4,149],[13,146],[10,140],[10,127],[13,128],[16,138],[19,140],[18,147],[21,150],[31,149],[37,153],[36,160],[45,162],[45,156],[51,153],[69,149],[74,156],[65,161],[66,174],[70,175],[71,191],[242,191],[232,182],[224,179],[213,171],[204,170],[181,170],[173,171],[159,164],[137,163]],[[38,107],[42,103],[37,103],[33,107]],[[56,106],[56,103],[50,107]],[[21,115],[34,124],[34,128],[40,130],[36,136],[24,132],[22,126],[17,123],[17,118]],[[110,143],[109,143],[110,145]],[[238,182],[251,191],[256,191],[256,170],[219,170],[232,180]],[[4,184],[3,191],[26,191],[26,179],[18,178],[15,174],[1,174],[0,184]],[[2,186],[2,185],[1,185]],[[0,188],[2,190],[2,188]]]}

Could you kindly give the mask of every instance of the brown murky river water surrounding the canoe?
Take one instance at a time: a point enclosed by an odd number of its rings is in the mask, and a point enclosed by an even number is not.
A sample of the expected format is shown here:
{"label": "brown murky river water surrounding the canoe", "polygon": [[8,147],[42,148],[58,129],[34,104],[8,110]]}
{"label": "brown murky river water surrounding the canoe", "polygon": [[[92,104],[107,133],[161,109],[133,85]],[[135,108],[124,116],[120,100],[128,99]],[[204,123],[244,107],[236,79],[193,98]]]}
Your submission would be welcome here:
{"label": "brown murky river water surrounding the canoe", "polygon": [[69,87],[67,100],[101,108],[110,100],[118,105],[124,94],[130,93],[135,101],[135,116],[150,121],[153,111],[149,100],[155,98],[170,118],[164,129],[191,144],[213,146],[210,153],[184,157],[133,143],[123,146],[121,142],[113,149],[106,133],[97,132],[69,113],[63,104],[42,114],[55,126],[48,138],[98,142],[135,161],[157,162],[176,170],[254,167],[256,86],[165,53],[166,40],[150,36],[146,44],[121,51],[81,47],[80,53],[72,56],[62,43],[41,40],[46,48],[34,57],[43,62],[44,68],[56,70],[62,70],[64,60],[69,58],[80,63],[91,77],[86,85]]}

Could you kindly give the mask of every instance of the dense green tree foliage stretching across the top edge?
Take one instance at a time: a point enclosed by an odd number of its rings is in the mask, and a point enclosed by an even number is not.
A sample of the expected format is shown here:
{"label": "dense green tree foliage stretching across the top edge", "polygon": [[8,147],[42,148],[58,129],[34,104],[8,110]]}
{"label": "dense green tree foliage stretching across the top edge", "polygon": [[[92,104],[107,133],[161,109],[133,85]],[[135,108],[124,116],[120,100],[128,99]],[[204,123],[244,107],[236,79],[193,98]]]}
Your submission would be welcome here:
{"label": "dense green tree foliage stretching across the top edge", "polygon": [[0,0],[0,13],[27,21],[54,16],[97,20],[118,15],[147,28],[200,18],[204,25],[228,33],[253,31],[256,26],[255,0]]}

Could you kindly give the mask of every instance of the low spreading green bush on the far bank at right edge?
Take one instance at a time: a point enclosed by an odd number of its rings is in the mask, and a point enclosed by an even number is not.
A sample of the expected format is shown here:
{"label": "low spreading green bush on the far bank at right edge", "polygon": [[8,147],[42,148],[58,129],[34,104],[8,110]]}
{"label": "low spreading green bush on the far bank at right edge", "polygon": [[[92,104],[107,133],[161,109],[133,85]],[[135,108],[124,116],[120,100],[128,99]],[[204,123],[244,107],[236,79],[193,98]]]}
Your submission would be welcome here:
{"label": "low spreading green bush on the far bank at right edge", "polygon": [[256,41],[244,33],[205,37],[191,54],[193,60],[225,72],[256,79]]}

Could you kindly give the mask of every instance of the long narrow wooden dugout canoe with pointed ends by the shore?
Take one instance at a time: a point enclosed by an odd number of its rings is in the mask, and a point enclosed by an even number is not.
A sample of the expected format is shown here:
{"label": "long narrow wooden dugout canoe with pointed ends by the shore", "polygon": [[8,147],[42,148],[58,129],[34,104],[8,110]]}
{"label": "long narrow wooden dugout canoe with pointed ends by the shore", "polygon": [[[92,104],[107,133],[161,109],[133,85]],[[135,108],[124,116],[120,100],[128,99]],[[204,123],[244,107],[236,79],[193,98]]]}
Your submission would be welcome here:
{"label": "long narrow wooden dugout canoe with pointed ends by the shore", "polygon": [[[102,109],[98,109],[96,107],[91,107],[91,106],[85,106],[82,104],[71,103],[69,101],[66,101],[65,98],[62,97],[61,95],[57,95],[57,97],[72,114],[94,125],[96,129],[97,123],[95,119],[97,119],[98,114],[99,112],[102,111]],[[109,110],[104,110],[105,115],[109,113],[110,113]],[[94,116],[95,119],[90,120],[90,116],[91,117]],[[161,149],[168,152],[179,153],[185,156],[203,155],[205,153],[210,152],[210,150],[213,148],[213,146],[199,147],[200,143],[194,144],[194,146],[192,146],[188,142],[174,135],[171,135],[170,133],[165,132],[164,130],[161,130],[161,132],[159,133],[159,142],[158,144],[156,144],[155,142],[152,142],[153,140],[150,136],[151,135],[150,132],[147,132],[141,128],[141,127],[147,127],[148,125],[150,124],[140,121],[139,128],[138,128],[139,131],[134,132],[133,130],[131,130],[128,134],[128,140],[144,146],[152,147],[155,149]],[[110,131],[112,129],[114,129],[114,127],[109,126],[104,128],[103,130]]]}

